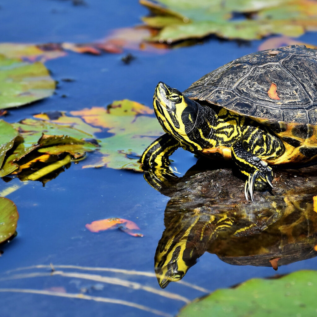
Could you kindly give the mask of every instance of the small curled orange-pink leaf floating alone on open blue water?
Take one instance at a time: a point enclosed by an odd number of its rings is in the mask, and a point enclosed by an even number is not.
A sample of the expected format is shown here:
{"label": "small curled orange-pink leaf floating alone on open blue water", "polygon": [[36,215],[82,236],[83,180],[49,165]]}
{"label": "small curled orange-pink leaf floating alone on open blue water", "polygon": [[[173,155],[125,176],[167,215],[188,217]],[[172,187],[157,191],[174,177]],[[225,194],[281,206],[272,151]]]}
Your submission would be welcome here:
{"label": "small curled orange-pink leaf floating alone on open blue water", "polygon": [[87,223],[85,226],[91,232],[100,232],[108,229],[117,229],[126,232],[130,236],[142,237],[140,233],[133,233],[132,230],[140,230],[136,223],[131,220],[121,218],[108,218],[96,220],[92,223]]}

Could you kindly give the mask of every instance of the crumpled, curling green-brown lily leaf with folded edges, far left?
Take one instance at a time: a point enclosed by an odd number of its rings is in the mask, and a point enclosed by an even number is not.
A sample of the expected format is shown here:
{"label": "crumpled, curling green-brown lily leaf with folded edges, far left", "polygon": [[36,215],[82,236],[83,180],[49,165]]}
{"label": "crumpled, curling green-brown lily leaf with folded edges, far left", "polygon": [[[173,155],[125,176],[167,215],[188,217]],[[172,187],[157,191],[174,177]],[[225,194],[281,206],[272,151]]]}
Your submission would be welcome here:
{"label": "crumpled, curling green-brown lily leaf with folded edges, far left", "polygon": [[[14,128],[15,133],[19,132],[20,139],[15,142],[10,154],[5,156],[0,177],[16,170],[30,169],[19,177],[22,180],[36,180],[74,159],[82,158],[86,152],[92,152],[98,146],[97,141],[91,139],[91,134],[71,126],[35,119],[25,119],[9,126]],[[47,155],[42,155],[44,153]],[[65,156],[66,153],[71,156]],[[38,162],[45,164],[35,168]]]}

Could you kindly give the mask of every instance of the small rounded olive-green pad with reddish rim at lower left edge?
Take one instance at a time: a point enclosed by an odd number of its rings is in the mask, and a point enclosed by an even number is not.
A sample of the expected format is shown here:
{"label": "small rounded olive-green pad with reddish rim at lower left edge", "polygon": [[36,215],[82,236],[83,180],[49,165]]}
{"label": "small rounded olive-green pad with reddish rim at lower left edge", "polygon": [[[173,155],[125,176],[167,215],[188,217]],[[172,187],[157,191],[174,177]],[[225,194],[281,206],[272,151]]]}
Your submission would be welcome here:
{"label": "small rounded olive-green pad with reddish rim at lower left edge", "polygon": [[14,235],[18,219],[16,205],[10,199],[0,197],[0,243]]}

